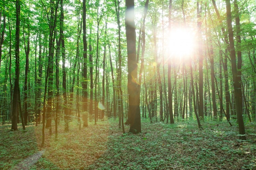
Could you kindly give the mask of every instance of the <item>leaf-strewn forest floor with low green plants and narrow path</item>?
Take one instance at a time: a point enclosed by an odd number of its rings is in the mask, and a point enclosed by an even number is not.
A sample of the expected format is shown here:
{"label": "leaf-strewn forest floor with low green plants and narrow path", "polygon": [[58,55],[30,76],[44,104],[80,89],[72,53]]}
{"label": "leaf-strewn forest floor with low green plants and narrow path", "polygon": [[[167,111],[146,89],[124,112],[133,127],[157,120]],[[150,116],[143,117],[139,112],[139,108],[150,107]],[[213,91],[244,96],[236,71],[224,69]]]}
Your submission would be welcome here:
{"label": "leaf-strewn forest floor with low green plants and narrow path", "polygon": [[[122,134],[118,120],[89,122],[81,128],[58,126],[58,141],[42,125],[11,131],[0,126],[0,170],[256,170],[256,124],[246,123],[246,141],[238,125],[226,121],[175,124],[141,120],[142,132]],[[218,126],[217,126],[218,125]],[[54,125],[53,125],[54,132]],[[126,132],[129,126],[125,126]]]}

